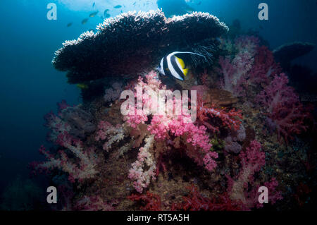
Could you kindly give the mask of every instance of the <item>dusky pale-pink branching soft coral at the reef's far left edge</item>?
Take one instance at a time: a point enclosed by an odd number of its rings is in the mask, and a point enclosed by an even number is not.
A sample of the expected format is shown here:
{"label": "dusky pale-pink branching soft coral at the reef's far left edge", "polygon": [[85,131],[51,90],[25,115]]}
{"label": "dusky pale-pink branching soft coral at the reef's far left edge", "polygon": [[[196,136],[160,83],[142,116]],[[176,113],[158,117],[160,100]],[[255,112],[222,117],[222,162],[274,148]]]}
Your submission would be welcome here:
{"label": "dusky pale-pink branching soft coral at the reef's far left edge", "polygon": [[[58,104],[58,114],[61,114],[61,110],[67,107],[69,106],[65,101]],[[33,172],[61,169],[69,175],[68,179],[71,182],[75,182],[75,179],[83,181],[85,178],[93,178],[98,172],[96,166],[99,162],[94,149],[85,150],[83,143],[68,133],[70,126],[59,116],[51,112],[45,116],[45,119],[45,126],[50,129],[49,141],[58,145],[59,151],[54,155],[46,151],[44,146],[40,147],[39,152],[45,155],[47,161],[32,162],[30,166],[34,169]],[[73,156],[75,156],[75,160],[70,159]]]}

